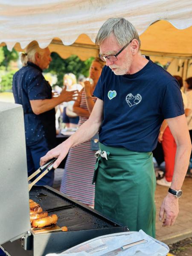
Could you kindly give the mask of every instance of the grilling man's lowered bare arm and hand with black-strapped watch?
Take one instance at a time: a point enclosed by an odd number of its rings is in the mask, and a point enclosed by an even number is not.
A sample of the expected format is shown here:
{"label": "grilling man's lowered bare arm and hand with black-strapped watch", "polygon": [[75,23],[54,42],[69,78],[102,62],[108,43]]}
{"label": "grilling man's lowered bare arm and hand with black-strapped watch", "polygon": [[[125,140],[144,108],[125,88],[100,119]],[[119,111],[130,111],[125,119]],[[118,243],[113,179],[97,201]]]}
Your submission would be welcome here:
{"label": "grilling man's lowered bare arm and hand with black-strapped watch", "polygon": [[[180,190],[187,172],[192,149],[189,130],[184,114],[182,116],[166,119],[166,121],[177,144],[174,175],[170,187],[174,190]],[[178,212],[178,198],[175,198],[174,195],[168,192],[160,207],[159,216],[160,221],[163,221],[163,226],[173,225]]]}

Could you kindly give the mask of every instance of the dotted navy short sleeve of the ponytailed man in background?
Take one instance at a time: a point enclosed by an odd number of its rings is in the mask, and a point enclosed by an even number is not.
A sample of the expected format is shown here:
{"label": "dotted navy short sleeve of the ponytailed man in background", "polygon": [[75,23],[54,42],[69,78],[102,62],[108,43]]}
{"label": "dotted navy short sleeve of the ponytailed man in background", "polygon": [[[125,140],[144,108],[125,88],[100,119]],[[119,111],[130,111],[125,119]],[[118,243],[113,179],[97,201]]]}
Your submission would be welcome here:
{"label": "dotted navy short sleeve of the ponytailed man in background", "polygon": [[49,98],[47,90],[48,86],[49,84],[44,79],[44,76],[41,73],[38,73],[31,81],[28,82],[27,91],[29,100]]}

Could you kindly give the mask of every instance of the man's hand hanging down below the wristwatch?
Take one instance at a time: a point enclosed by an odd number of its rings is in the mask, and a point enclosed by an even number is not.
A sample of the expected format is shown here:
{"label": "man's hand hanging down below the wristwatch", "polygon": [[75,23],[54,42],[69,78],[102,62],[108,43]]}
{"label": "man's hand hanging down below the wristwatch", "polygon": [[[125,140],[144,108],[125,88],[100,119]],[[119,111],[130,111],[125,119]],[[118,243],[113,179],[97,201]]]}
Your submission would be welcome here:
{"label": "man's hand hanging down below the wristwatch", "polygon": [[168,194],[161,204],[159,213],[160,221],[163,222],[163,227],[172,226],[175,223],[178,213],[178,198],[175,198],[175,196],[172,194]]}

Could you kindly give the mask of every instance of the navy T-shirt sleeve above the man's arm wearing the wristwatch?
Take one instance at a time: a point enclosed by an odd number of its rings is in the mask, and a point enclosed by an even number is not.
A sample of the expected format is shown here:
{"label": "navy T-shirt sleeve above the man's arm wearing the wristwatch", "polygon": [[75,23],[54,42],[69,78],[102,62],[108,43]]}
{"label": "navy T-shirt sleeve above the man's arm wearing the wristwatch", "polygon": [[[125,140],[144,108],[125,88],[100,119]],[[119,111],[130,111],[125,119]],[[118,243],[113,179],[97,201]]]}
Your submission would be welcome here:
{"label": "navy T-shirt sleeve above the man's arm wearing the wristwatch", "polygon": [[165,119],[181,116],[185,113],[183,98],[176,80],[170,81],[165,86],[161,109]]}

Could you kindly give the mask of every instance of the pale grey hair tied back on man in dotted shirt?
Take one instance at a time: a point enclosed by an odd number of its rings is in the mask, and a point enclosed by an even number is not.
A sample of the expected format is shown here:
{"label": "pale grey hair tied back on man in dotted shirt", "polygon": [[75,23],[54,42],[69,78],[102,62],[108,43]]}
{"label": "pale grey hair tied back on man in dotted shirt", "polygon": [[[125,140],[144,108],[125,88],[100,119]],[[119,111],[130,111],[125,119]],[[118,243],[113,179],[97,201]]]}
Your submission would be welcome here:
{"label": "pale grey hair tied back on man in dotted shirt", "polygon": [[26,47],[26,53],[22,53],[20,56],[22,65],[26,66],[27,61],[31,61],[35,63],[35,53],[38,52],[40,55],[43,55],[45,52],[45,49],[40,48],[37,41],[32,41]]}

